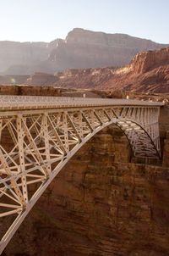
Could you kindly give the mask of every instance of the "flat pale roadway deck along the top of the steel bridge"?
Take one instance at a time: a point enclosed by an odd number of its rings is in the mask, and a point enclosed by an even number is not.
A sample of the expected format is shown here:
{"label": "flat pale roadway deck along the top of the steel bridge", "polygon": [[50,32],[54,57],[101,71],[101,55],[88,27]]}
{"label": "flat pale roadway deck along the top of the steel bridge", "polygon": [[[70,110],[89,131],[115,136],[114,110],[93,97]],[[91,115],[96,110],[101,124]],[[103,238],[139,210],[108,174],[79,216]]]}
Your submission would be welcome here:
{"label": "flat pale roadway deck along the top of the steel bridge", "polygon": [[134,99],[109,99],[85,97],[0,96],[0,110],[54,109],[88,106],[143,106],[161,107],[164,103]]}

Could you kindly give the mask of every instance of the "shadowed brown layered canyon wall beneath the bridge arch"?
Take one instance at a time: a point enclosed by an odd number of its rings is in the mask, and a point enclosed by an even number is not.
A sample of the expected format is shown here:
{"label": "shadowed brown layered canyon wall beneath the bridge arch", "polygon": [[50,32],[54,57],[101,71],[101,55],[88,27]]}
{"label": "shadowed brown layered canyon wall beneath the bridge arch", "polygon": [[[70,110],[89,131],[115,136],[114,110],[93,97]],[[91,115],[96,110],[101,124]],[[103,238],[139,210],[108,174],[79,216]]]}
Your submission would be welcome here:
{"label": "shadowed brown layered canyon wall beneath the bridge arch", "polygon": [[97,134],[57,175],[3,255],[169,255],[169,170],[128,164],[128,157],[118,129]]}

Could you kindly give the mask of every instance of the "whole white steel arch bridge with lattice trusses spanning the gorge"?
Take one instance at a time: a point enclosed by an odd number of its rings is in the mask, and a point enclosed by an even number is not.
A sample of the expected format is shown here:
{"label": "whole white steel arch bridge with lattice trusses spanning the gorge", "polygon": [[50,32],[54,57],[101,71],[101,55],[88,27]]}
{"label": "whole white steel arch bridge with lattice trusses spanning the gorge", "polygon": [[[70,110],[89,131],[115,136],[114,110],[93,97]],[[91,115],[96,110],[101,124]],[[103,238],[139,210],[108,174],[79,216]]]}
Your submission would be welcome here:
{"label": "whole white steel arch bridge with lattice trusses spanning the gorge", "polygon": [[54,177],[98,131],[117,125],[134,157],[160,159],[162,103],[0,96],[0,217],[15,217],[0,253]]}

